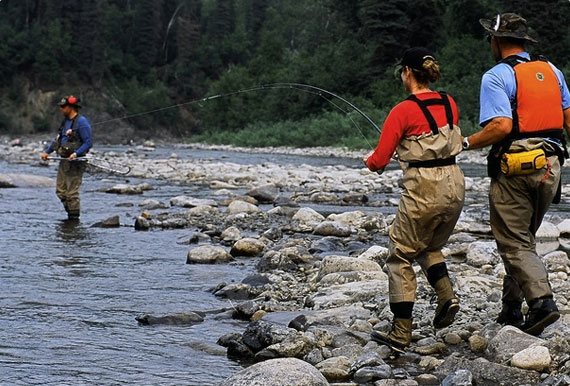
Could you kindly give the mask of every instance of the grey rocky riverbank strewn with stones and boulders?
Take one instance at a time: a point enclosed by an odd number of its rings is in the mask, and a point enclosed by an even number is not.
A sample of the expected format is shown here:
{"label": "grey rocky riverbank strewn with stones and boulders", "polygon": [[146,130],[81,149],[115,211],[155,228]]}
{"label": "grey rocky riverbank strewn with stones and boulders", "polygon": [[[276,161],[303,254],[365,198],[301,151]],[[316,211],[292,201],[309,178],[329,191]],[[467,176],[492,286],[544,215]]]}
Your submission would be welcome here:
{"label": "grey rocky riverbank strewn with stones and boulders", "polygon": [[[189,146],[214,148],[180,148]],[[215,148],[362,156],[338,149]],[[4,140],[0,141],[0,159],[38,164],[41,149],[39,142]],[[434,331],[433,291],[417,267],[413,343],[407,354],[395,357],[387,347],[370,341],[370,332],[390,328],[383,264],[401,171],[378,175],[364,167],[343,165],[244,164],[232,162],[231,156],[189,162],[175,153],[149,157],[154,149],[147,142],[120,153],[93,151],[92,157],[128,165],[132,179],[142,181],[115,185],[102,181],[101,191],[136,195],[129,196],[137,197],[140,208],[132,224],[136,229],[191,230],[187,239],[180,240],[188,244],[187,256],[181,257],[188,264],[241,259],[255,259],[257,264],[255,274],[212,289],[215,296],[234,304],[217,317],[251,321],[243,333],[220,337],[219,344],[236,360],[261,362],[224,385],[253,380],[268,385],[570,384],[568,213],[548,215],[537,234],[538,251],[550,272],[561,319],[540,337],[501,328],[493,320],[500,309],[504,267],[488,225],[489,181],[466,178],[466,205],[445,248],[461,311],[453,325]],[[462,154],[459,163],[482,164],[484,154]],[[10,178],[15,186],[32,180]],[[144,192],[153,188],[147,180],[155,179],[181,187],[197,185],[212,193],[207,197],[180,194],[165,202],[145,200]],[[563,186],[562,200],[570,202],[568,184]],[[333,207],[335,212],[313,209],[322,206]],[[343,207],[351,209],[343,211]],[[141,320],[193,324],[200,323],[203,315]]]}

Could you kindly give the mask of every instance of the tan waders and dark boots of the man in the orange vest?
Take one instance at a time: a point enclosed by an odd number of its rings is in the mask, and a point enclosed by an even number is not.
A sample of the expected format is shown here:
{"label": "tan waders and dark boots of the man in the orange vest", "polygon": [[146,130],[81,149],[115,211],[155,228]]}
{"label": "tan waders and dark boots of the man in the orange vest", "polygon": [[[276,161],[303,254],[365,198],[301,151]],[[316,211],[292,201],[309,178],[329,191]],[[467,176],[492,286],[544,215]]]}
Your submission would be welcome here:
{"label": "tan waders and dark boots of the man in the orange vest", "polygon": [[[509,152],[532,150],[536,143],[535,139],[516,141]],[[503,279],[503,311],[497,321],[520,326],[522,320],[519,312],[523,299],[526,299],[529,308],[533,302],[540,303],[534,313],[532,309],[529,310],[522,327],[535,335],[558,319],[554,315],[558,310],[554,310],[556,306],[552,301],[548,273],[536,253],[535,241],[536,231],[560,181],[558,157],[550,156],[548,160],[548,170],[545,168],[533,174],[507,177],[499,173],[497,178],[491,180],[489,191],[491,230],[507,273]],[[539,299],[550,299],[552,304],[548,301],[536,302]],[[550,323],[545,324],[542,319]],[[537,328],[533,328],[535,324],[538,324]]]}

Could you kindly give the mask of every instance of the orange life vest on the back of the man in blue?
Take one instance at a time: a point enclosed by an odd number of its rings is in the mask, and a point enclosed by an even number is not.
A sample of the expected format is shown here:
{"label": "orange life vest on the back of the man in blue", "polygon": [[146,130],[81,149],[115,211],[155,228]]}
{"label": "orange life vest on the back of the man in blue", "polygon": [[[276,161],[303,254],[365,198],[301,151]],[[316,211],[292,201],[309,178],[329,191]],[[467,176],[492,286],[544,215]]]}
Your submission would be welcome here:
{"label": "orange life vest on the back of the man in blue", "polygon": [[562,93],[554,70],[544,57],[520,56],[503,60],[516,79],[513,103],[513,136],[530,137],[531,133],[560,130],[564,124]]}

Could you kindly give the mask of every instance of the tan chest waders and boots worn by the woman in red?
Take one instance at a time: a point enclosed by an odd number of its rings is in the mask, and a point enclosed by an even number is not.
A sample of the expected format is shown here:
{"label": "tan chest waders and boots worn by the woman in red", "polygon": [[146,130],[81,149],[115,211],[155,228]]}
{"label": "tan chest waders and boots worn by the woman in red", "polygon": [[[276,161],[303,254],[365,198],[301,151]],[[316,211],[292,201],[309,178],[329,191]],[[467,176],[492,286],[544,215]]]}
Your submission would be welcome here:
{"label": "tan chest waders and boots worn by the woman in red", "polygon": [[407,137],[397,149],[400,160],[410,167],[404,171],[404,191],[390,228],[386,260],[394,321],[387,335],[374,332],[372,338],[398,352],[411,342],[417,288],[414,261],[438,296],[434,326],[450,325],[459,310],[441,248],[453,232],[465,198],[463,172],[454,158],[461,151],[460,130],[448,124],[438,132]]}

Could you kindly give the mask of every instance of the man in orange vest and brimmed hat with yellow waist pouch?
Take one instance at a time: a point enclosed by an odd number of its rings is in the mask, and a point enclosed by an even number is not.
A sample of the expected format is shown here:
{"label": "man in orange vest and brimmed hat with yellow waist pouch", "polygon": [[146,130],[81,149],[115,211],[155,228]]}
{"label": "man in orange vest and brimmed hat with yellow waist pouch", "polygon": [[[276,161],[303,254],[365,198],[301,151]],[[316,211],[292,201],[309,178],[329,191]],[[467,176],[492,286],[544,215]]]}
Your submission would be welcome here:
{"label": "man in orange vest and brimmed hat with yellow waist pouch", "polygon": [[[487,158],[490,220],[506,271],[497,322],[540,335],[560,317],[535,234],[550,203],[560,200],[570,94],[560,70],[526,52],[525,43],[536,40],[527,34],[524,18],[503,13],[479,22],[498,64],[481,81],[483,129],[464,138],[463,149],[492,145]],[[523,300],[529,306],[524,319]]]}

